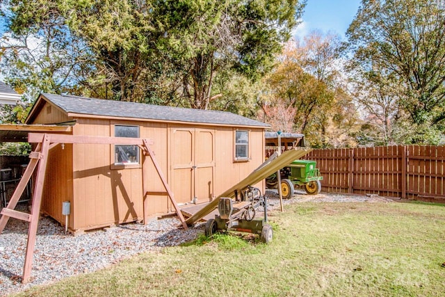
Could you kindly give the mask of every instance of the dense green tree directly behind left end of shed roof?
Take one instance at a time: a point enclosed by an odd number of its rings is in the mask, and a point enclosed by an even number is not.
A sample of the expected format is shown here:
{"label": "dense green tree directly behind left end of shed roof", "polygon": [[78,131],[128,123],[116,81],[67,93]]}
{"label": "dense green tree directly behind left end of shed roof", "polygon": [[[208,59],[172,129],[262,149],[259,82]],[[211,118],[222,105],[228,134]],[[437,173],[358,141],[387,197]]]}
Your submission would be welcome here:
{"label": "dense green tree directly behind left end of shed roof", "polygon": [[[73,1],[60,11],[88,45],[96,75],[83,81],[106,99],[150,102],[159,78],[152,1]],[[167,72],[167,71],[166,71]],[[157,82],[157,81],[156,81]],[[152,103],[152,102],[150,102]]]}

